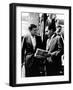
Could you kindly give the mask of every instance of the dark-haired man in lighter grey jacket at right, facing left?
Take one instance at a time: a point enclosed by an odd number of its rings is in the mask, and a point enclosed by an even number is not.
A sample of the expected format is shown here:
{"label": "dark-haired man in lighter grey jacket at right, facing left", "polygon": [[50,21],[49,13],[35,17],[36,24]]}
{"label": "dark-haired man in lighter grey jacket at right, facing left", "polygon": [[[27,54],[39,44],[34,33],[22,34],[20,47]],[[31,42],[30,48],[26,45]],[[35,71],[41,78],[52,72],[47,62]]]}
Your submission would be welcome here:
{"label": "dark-haired man in lighter grey jacket at right, facing left", "polygon": [[45,34],[48,36],[46,43],[46,70],[47,75],[59,75],[61,69],[61,56],[64,53],[63,41],[60,35],[55,33],[55,29],[50,25]]}

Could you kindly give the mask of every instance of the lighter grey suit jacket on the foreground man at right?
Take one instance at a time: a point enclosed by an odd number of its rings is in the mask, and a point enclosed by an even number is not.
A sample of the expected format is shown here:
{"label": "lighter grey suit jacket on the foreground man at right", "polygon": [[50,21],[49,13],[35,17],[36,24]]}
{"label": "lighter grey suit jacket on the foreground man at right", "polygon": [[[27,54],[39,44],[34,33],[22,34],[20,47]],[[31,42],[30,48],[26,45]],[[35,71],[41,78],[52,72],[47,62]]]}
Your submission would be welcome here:
{"label": "lighter grey suit jacket on the foreground man at right", "polygon": [[64,45],[59,35],[54,35],[51,39],[48,51],[51,53],[51,57],[48,59],[51,59],[54,65],[61,66],[61,56],[64,53]]}

